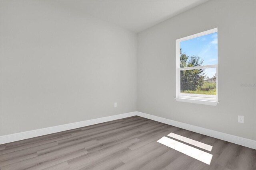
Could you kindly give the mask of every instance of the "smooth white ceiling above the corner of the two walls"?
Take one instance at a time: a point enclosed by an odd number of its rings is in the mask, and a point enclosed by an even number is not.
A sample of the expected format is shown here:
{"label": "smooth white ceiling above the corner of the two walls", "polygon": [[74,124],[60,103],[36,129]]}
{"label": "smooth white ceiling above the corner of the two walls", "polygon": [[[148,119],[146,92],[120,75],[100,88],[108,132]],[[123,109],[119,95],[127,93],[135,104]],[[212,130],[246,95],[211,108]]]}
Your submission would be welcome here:
{"label": "smooth white ceiling above the corner of the two walls", "polygon": [[140,32],[207,0],[72,0],[57,1],[101,20]]}

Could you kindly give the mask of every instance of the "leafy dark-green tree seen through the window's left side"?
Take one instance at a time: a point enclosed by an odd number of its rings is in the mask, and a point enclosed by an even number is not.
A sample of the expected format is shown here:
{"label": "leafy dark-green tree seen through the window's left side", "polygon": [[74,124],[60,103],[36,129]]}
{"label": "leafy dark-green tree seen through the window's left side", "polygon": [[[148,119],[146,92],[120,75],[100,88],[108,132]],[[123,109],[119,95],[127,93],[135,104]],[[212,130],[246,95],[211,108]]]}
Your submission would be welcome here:
{"label": "leafy dark-green tree seen through the window's left side", "polygon": [[[187,56],[180,49],[180,67],[200,66],[202,63],[204,63],[204,60],[200,60],[200,57]],[[180,90],[195,91],[201,88],[204,84],[204,76],[204,69],[182,70],[180,72]]]}

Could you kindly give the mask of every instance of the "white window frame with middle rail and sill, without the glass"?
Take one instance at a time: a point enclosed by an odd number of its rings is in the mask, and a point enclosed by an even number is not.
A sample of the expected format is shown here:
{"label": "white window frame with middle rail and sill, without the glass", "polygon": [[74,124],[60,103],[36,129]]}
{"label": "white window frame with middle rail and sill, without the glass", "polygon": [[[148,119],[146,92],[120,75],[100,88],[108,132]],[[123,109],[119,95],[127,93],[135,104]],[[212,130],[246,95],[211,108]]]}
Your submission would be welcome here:
{"label": "white window frame with middle rail and sill, without the glass", "polygon": [[[190,35],[176,40],[176,101],[216,106],[218,104],[218,64],[194,67],[180,67],[180,42],[218,32],[218,28],[210,29],[201,33]],[[204,94],[180,93],[180,71],[204,68],[216,68],[216,96]]]}

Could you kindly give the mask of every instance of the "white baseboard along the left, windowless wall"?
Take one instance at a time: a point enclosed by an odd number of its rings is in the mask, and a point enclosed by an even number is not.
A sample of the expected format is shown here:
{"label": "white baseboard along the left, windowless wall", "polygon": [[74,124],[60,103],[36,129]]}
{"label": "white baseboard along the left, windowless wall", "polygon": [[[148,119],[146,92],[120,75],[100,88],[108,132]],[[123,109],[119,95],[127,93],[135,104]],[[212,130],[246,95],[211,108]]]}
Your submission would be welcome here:
{"label": "white baseboard along the left, windowless wall", "polygon": [[97,119],[90,119],[86,121],[79,121],[75,123],[69,123],[69,124],[64,124],[64,125],[59,125],[59,126],[53,126],[53,127],[46,127],[42,129],[36,129],[32,131],[25,131],[25,132],[20,132],[20,133],[14,133],[10,135],[3,135],[0,136],[0,144],[4,143],[10,143],[14,141],[20,141],[23,139],[28,139],[32,137],[38,137],[42,135],[48,135],[51,133],[56,133],[56,132],[61,132],[61,131],[66,131],[70,129],[76,129],[79,127],[84,127],[84,126],[89,126],[89,125],[94,125],[98,123],[103,123],[107,121],[112,121],[116,119],[122,119],[125,117],[131,117],[137,115],[137,112],[130,112],[130,113],[123,113],[119,115],[113,115],[113,116],[108,116],[108,117],[101,117]]}

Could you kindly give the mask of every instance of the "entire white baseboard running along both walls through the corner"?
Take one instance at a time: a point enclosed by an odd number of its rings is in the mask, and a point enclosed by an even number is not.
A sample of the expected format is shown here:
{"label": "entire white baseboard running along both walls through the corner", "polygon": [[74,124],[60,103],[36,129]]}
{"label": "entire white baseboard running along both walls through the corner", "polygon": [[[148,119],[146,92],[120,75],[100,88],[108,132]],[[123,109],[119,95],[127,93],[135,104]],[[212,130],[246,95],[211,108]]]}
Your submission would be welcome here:
{"label": "entire white baseboard running along both walls through the corner", "polygon": [[161,123],[165,123],[165,124],[168,124],[168,125],[180,127],[182,129],[186,129],[186,130],[189,130],[189,131],[193,131],[193,132],[200,133],[200,134],[203,134],[203,135],[207,135],[207,136],[210,136],[210,137],[214,137],[214,138],[217,138],[217,139],[221,139],[223,141],[228,141],[228,142],[231,142],[231,143],[242,145],[244,147],[256,149],[256,141],[251,140],[251,139],[246,139],[246,138],[243,138],[243,137],[229,135],[229,134],[226,134],[226,133],[213,131],[213,130],[210,130],[210,129],[205,129],[203,127],[189,125],[189,124],[186,124],[186,123],[166,119],[166,118],[163,118],[163,117],[158,117],[158,116],[142,113],[142,112],[139,112],[139,111],[134,111],[134,112],[130,112],[130,113],[123,113],[123,114],[113,115],[113,116],[108,116],[108,117],[101,117],[101,118],[98,118],[98,119],[91,119],[91,120],[80,121],[80,122],[75,122],[75,123],[69,123],[69,124],[65,124],[65,125],[46,127],[46,128],[43,128],[43,129],[36,129],[36,130],[32,130],[32,131],[14,133],[14,134],[10,134],[10,135],[4,135],[4,136],[0,136],[0,144],[10,143],[10,142],[14,142],[14,141],[20,141],[20,140],[23,140],[23,139],[38,137],[38,136],[42,136],[42,135],[48,135],[48,134],[51,134],[51,133],[57,133],[57,132],[66,131],[66,130],[70,130],[70,129],[76,129],[76,128],[79,128],[79,127],[85,127],[85,126],[89,126],[89,125],[94,125],[94,124],[103,123],[103,122],[107,122],[107,121],[112,121],[112,120],[116,120],[116,119],[122,119],[122,118],[125,118],[125,117],[131,117],[131,116],[135,116],[135,115],[138,115],[140,117],[145,117],[147,119],[151,119],[151,120],[158,121],[158,122],[161,122]]}

